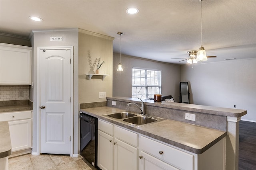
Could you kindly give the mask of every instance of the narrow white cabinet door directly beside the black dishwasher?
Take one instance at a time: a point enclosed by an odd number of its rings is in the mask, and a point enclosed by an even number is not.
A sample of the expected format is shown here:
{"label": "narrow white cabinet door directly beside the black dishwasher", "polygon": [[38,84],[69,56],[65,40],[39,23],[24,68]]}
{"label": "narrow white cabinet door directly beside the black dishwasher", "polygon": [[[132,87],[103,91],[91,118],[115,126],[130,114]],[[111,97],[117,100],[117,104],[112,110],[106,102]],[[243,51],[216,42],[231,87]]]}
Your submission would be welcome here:
{"label": "narrow white cabinet door directly beside the black dishwasher", "polygon": [[102,170],[114,169],[114,137],[98,130],[98,166]]}

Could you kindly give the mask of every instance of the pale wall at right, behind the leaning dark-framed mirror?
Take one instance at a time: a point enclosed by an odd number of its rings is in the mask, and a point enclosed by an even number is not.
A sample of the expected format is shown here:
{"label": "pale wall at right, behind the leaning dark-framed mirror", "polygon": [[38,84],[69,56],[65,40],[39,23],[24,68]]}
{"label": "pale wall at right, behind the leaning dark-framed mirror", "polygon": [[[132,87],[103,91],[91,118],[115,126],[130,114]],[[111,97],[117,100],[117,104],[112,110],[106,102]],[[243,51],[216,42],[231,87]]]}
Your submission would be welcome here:
{"label": "pale wall at right, behind the leaning dark-framed mirror", "polygon": [[247,110],[242,119],[256,122],[256,59],[181,66],[192,104]]}

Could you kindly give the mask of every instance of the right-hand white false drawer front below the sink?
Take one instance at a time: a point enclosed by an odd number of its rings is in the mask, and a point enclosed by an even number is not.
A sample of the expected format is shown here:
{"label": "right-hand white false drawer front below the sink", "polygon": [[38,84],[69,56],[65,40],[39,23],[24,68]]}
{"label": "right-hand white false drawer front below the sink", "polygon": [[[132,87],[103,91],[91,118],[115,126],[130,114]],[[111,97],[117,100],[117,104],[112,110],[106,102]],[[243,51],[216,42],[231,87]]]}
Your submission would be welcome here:
{"label": "right-hand white false drawer front below the sink", "polygon": [[131,145],[134,145],[135,147],[138,147],[138,134],[128,131],[126,129],[123,129],[121,127],[115,126],[115,137],[118,139],[121,139],[122,141],[125,141],[126,143],[129,143]]}

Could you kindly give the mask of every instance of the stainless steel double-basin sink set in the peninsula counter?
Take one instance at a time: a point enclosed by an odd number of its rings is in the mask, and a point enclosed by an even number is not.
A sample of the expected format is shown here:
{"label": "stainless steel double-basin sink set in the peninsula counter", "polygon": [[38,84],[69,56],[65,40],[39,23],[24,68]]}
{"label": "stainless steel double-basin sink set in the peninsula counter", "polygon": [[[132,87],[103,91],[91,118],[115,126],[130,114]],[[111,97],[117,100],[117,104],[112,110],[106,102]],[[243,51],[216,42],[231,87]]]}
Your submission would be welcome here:
{"label": "stainless steel double-basin sink set in the peninsula counter", "polygon": [[103,116],[112,117],[112,118],[116,119],[117,121],[122,121],[124,123],[128,123],[130,125],[135,125],[135,126],[142,126],[142,125],[146,125],[149,123],[155,123],[158,121],[165,120],[160,117],[154,117],[154,116],[150,116],[150,115],[141,115],[141,114],[132,113],[129,111],[118,112],[118,113],[109,113],[109,114],[104,114]]}

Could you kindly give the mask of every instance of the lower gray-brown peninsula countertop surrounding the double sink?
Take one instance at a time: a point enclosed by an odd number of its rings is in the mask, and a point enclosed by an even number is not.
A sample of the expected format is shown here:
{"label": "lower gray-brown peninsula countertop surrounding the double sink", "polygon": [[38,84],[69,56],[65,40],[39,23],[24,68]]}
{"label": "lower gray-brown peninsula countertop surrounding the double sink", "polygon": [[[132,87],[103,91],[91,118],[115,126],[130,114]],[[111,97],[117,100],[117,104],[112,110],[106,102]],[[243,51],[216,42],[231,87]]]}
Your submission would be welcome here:
{"label": "lower gray-brown peninsula countertop surrounding the double sink", "polygon": [[115,107],[93,107],[80,109],[80,111],[196,154],[203,153],[227,135],[226,131],[170,119],[136,127],[102,116],[107,113],[124,111]]}

